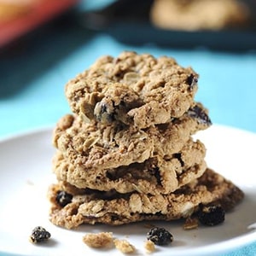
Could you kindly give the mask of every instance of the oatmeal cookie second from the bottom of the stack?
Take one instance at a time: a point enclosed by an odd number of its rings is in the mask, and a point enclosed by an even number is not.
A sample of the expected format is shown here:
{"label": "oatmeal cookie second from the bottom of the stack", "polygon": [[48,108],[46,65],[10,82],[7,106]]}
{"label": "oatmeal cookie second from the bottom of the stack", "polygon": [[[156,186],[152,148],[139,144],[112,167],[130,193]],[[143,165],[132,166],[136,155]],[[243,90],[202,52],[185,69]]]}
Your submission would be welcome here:
{"label": "oatmeal cookie second from the bottom of the stack", "polygon": [[169,194],[205,172],[205,154],[206,148],[201,142],[189,140],[183,149],[173,154],[170,159],[152,157],[143,163],[87,172],[83,166],[70,164],[63,154],[57,152],[53,169],[58,180],[79,189]]}

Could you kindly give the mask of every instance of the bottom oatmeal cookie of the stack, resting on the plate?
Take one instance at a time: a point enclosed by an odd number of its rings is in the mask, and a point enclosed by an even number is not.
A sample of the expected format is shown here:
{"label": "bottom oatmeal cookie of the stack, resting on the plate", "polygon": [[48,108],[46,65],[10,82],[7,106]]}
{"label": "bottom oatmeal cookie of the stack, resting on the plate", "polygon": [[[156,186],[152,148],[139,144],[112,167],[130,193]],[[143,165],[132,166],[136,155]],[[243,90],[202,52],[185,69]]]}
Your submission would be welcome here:
{"label": "bottom oatmeal cookie of the stack, resting on the plate", "polygon": [[142,220],[173,220],[188,218],[199,210],[201,204],[216,203],[229,210],[243,198],[243,193],[233,183],[210,169],[194,182],[169,195],[141,193],[87,191],[82,195],[66,195],[61,185],[49,188],[53,224],[73,229],[80,224],[127,224]]}

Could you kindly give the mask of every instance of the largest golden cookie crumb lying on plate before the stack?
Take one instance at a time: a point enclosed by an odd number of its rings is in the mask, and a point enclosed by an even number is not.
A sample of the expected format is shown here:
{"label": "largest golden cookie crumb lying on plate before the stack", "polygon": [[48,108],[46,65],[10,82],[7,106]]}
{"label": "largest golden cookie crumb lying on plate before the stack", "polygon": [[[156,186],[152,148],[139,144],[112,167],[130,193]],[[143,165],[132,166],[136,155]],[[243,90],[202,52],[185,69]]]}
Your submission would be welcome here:
{"label": "largest golden cookie crumb lying on plate before the stack", "polygon": [[113,245],[113,233],[101,232],[98,234],[87,234],[83,237],[83,241],[89,247],[111,247]]}

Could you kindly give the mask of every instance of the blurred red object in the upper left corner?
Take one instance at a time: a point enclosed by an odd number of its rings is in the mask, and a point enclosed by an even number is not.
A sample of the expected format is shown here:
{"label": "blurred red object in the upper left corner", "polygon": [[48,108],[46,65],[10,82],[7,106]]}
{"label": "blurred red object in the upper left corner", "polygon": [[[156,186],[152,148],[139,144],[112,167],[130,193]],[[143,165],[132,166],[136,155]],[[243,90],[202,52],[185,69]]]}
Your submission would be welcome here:
{"label": "blurred red object in the upper left corner", "polygon": [[0,22],[0,47],[9,44],[26,32],[34,30],[78,2],[79,0],[42,0],[28,14],[21,15],[15,20]]}

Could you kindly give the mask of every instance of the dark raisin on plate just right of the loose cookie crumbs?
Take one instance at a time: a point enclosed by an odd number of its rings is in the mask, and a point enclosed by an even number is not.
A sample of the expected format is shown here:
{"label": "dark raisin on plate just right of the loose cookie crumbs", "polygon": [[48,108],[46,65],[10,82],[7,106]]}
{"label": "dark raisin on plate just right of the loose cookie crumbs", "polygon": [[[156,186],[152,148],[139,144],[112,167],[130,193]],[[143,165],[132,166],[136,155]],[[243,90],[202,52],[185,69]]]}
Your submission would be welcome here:
{"label": "dark raisin on plate just right of the loose cookie crumbs", "polygon": [[164,228],[154,227],[148,231],[147,239],[156,245],[167,245],[173,241],[173,236]]}

